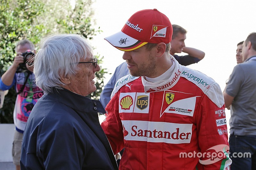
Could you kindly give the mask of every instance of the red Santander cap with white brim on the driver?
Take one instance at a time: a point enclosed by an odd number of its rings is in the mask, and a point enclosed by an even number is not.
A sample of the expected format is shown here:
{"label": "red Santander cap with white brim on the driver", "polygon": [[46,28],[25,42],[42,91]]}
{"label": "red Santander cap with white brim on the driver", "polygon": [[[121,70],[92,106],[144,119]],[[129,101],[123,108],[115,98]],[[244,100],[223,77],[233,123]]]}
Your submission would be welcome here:
{"label": "red Santander cap with white brim on the driver", "polygon": [[157,9],[134,13],[122,30],[104,38],[122,51],[132,51],[149,43],[165,44],[172,41],[172,24],[168,17]]}

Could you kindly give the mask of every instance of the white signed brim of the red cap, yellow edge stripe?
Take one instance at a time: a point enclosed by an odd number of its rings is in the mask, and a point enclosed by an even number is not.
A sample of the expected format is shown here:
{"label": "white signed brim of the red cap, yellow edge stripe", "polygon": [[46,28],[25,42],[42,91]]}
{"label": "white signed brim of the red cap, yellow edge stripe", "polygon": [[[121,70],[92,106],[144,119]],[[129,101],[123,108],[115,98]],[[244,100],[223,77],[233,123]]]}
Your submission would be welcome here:
{"label": "white signed brim of the red cap, yellow edge stripe", "polygon": [[107,40],[112,46],[122,51],[132,51],[147,44],[147,42],[136,40],[126,35],[122,31],[110,35],[104,39]]}

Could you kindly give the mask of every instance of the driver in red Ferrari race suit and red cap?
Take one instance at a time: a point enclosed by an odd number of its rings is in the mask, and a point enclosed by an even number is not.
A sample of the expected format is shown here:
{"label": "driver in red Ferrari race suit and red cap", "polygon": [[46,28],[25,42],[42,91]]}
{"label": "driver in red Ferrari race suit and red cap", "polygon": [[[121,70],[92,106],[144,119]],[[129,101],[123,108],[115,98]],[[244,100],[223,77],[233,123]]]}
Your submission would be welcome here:
{"label": "driver in red Ferrari race suit and red cap", "polygon": [[169,54],[172,25],[157,9],[134,13],[105,38],[131,75],[116,82],[101,123],[119,169],[229,169],[220,86]]}

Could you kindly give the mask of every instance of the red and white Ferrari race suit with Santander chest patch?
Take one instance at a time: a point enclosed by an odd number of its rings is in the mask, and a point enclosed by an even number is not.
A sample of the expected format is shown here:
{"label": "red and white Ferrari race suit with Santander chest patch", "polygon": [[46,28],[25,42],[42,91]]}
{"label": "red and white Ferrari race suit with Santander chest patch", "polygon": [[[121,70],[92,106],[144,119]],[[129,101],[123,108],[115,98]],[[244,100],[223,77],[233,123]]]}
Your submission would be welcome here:
{"label": "red and white Ferrari race suit with Santander chest patch", "polygon": [[116,83],[101,126],[114,154],[125,147],[119,169],[229,169],[220,86],[174,62],[160,84],[131,75]]}

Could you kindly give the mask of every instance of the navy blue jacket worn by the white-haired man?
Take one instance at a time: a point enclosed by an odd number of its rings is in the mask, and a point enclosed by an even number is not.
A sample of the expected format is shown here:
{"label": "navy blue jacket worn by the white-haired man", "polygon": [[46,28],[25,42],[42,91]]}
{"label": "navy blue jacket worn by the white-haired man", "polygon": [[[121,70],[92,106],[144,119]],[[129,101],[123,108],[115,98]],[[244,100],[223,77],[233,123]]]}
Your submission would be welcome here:
{"label": "navy blue jacket worn by the white-haired man", "polygon": [[118,169],[97,112],[100,101],[66,89],[44,94],[24,131],[21,169]]}

